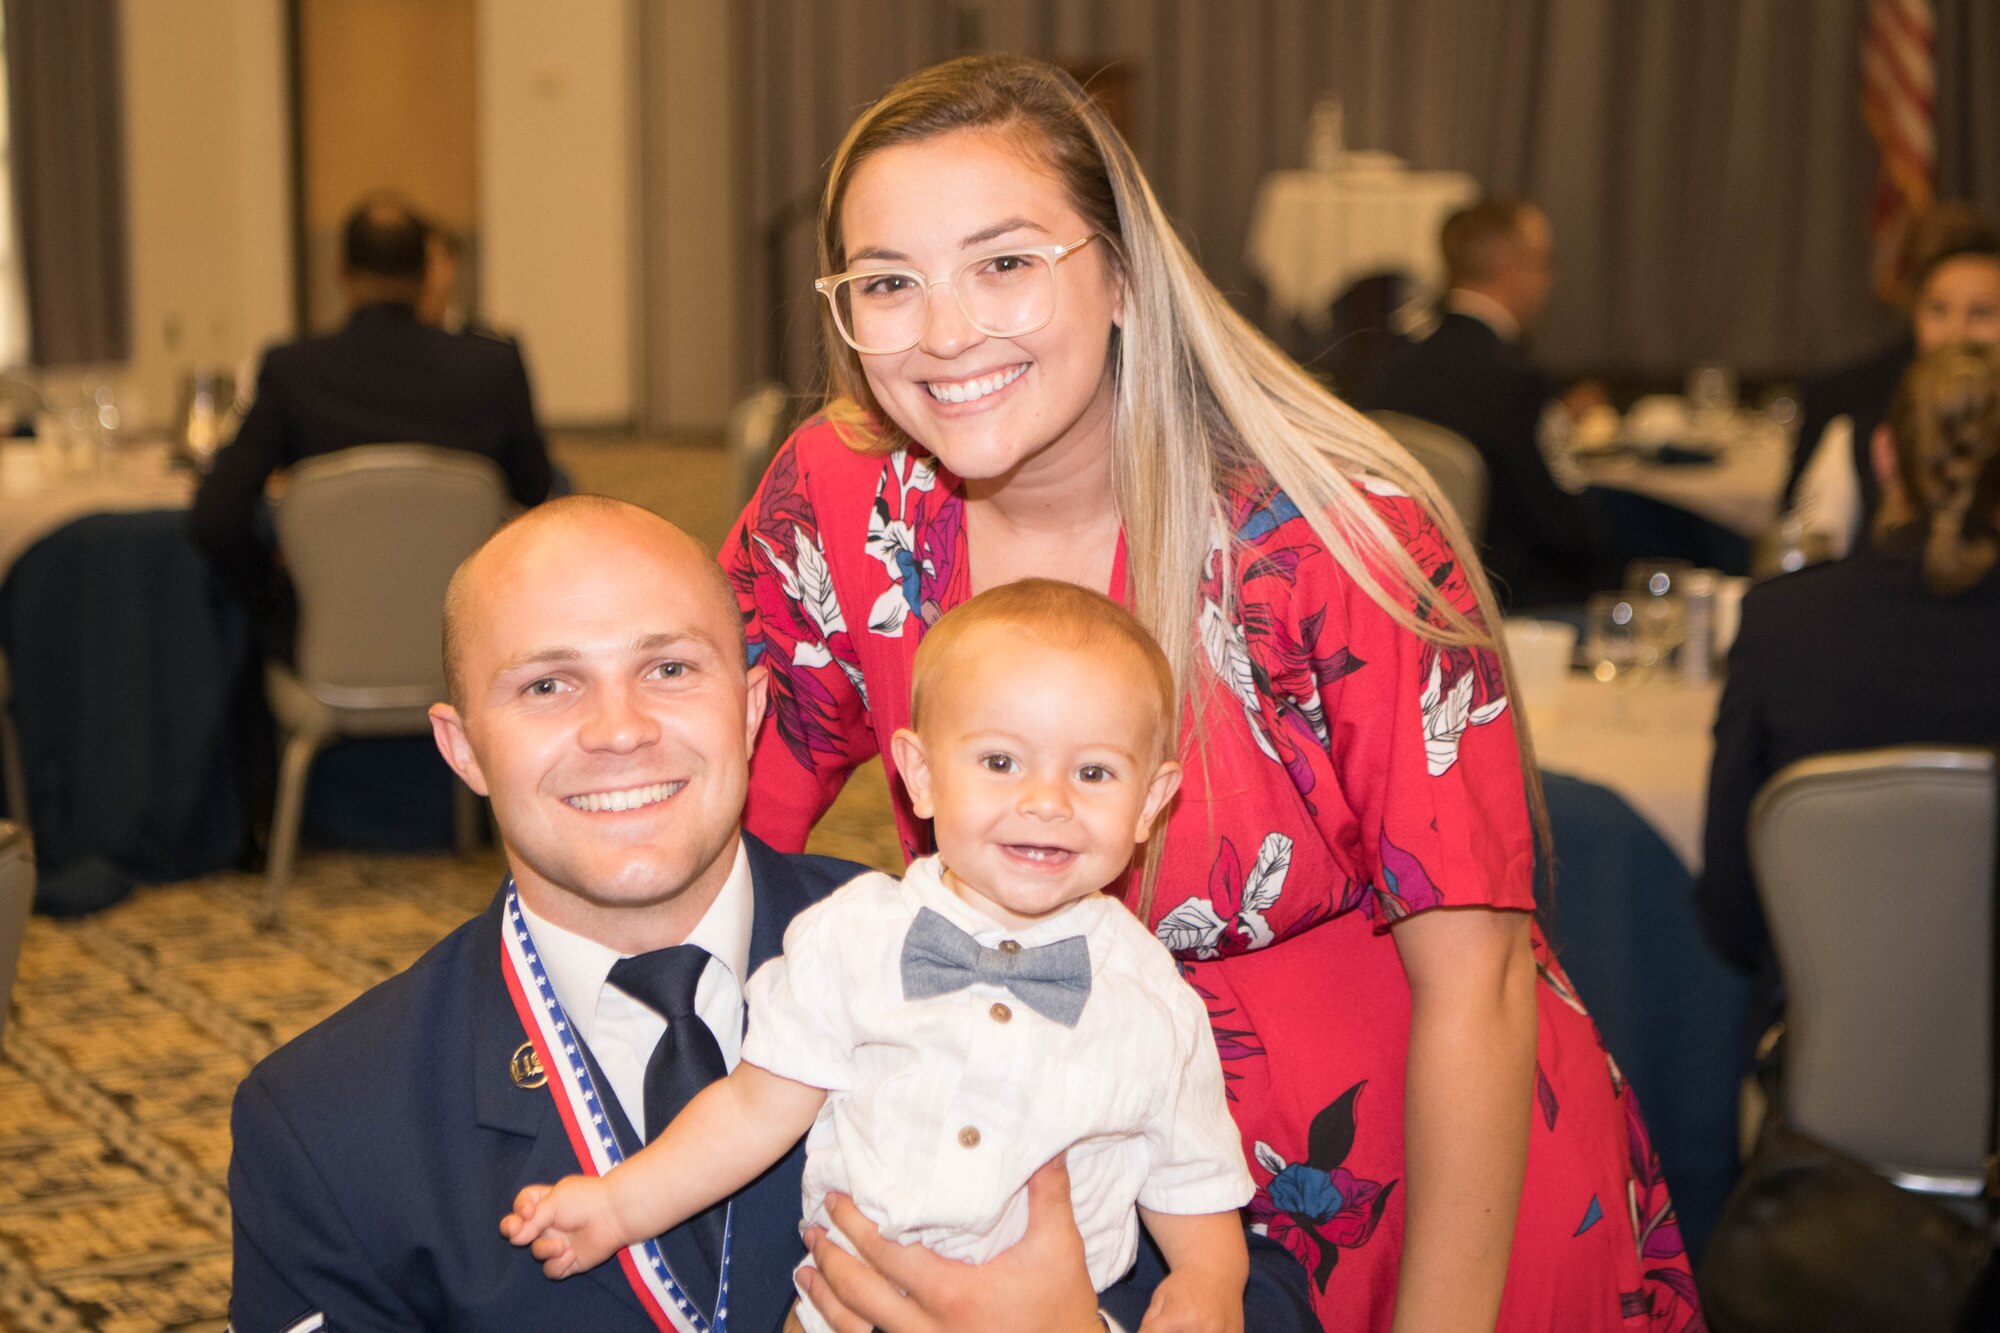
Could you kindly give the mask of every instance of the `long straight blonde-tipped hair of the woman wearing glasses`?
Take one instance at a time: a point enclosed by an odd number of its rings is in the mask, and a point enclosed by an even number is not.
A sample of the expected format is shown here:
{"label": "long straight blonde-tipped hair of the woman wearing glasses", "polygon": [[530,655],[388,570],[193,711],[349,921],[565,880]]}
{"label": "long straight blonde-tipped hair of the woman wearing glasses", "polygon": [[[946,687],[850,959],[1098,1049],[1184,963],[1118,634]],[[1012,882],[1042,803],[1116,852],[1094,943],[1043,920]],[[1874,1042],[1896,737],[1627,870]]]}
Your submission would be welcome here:
{"label": "long straight blonde-tipped hair of the woman wearing glasses", "polygon": [[[848,130],[828,170],[820,272],[846,268],[840,210],[856,168],[884,148],[954,130],[1018,132],[1020,144],[1062,180],[1070,204],[1120,268],[1126,296],[1124,326],[1112,332],[1112,466],[1126,576],[1132,610],[1160,640],[1184,697],[1204,681],[1188,626],[1200,610],[1204,556],[1214,534],[1228,532],[1224,482],[1254,468],[1270,474],[1328,554],[1398,624],[1438,644],[1500,650],[1492,634],[1496,600],[1472,558],[1474,542],[1424,468],[1222,298],[1160,208],[1132,148],[1060,68],[1028,56],[964,56],[918,70],[882,94]],[[908,444],[870,392],[860,356],[840,338],[830,310],[822,310],[822,344],[828,414],[848,442],[868,450]],[[1434,596],[1424,570],[1354,486],[1358,476],[1386,480],[1430,512],[1460,554],[1478,616]],[[1224,614],[1230,610],[1224,606]],[[1192,709],[1192,717],[1198,733],[1202,711]],[[1524,727],[1520,739],[1522,779],[1546,851],[1542,783]],[[1156,841],[1142,919],[1152,905],[1158,853]]]}

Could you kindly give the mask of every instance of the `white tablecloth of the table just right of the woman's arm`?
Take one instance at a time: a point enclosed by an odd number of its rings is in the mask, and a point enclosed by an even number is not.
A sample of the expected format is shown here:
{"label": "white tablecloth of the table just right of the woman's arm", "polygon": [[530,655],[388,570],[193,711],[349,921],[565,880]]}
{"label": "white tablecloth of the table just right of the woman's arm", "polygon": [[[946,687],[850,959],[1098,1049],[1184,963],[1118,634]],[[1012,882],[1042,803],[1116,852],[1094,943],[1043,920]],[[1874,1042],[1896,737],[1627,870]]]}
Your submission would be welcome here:
{"label": "white tablecloth of the table just right of the woman's arm", "polygon": [[1534,715],[1534,755],[1548,773],[1616,791],[1700,871],[1720,697],[1720,685],[1600,685],[1572,673],[1554,721]]}

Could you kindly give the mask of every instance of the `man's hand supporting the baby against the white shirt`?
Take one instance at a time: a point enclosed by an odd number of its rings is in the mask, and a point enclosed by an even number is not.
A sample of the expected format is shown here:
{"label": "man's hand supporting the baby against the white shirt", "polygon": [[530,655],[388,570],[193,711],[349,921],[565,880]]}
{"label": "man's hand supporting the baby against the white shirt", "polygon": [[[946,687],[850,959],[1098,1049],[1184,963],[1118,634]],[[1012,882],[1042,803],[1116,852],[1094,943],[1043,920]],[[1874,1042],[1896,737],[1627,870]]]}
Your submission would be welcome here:
{"label": "man's hand supporting the baby against the white shirt", "polygon": [[826,1203],[860,1259],[812,1229],[818,1269],[802,1269],[800,1281],[838,1333],[1102,1333],[1060,1157],[1028,1177],[1028,1231],[978,1265],[884,1241],[846,1195]]}

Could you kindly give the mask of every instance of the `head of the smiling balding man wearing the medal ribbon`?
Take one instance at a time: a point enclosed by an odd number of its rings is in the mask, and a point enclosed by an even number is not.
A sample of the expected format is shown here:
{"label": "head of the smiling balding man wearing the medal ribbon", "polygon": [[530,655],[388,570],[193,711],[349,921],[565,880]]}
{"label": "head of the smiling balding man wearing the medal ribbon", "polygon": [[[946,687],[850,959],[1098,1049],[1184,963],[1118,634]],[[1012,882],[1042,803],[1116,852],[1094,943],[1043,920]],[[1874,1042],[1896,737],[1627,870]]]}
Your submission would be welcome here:
{"label": "head of the smiling balding man wearing the medal ribbon", "polygon": [[452,576],[444,652],[432,737],[522,903],[618,953],[680,943],[736,863],[766,703],[708,552],[636,504],[552,500]]}

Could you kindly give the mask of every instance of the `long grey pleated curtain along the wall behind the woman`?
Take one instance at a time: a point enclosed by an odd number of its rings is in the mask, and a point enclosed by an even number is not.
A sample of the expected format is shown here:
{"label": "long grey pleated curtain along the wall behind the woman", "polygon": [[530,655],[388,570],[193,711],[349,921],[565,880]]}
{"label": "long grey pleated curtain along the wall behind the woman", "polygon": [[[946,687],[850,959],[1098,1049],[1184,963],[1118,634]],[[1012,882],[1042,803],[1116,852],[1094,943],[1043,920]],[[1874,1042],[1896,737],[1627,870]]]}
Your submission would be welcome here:
{"label": "long grey pleated curtain along the wall behind the woman", "polygon": [[[2000,6],[1938,0],[1940,178],[2000,214]],[[1322,94],[1350,148],[1544,204],[1556,370],[1746,376],[1852,356],[1874,150],[1862,0],[746,0],[746,354],[814,370],[812,200],[840,132],[896,76],[968,50],[1126,62],[1130,130],[1168,212],[1240,308],[1264,172],[1304,160]]]}

